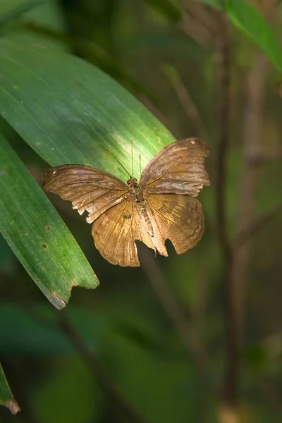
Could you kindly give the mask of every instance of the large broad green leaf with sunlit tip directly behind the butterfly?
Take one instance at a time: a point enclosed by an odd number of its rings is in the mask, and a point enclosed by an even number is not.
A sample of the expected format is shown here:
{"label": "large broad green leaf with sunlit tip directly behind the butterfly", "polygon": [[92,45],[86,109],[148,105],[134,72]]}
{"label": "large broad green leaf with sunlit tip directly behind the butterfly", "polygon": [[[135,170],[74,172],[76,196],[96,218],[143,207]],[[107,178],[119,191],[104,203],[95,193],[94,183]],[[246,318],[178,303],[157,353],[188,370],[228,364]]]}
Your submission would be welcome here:
{"label": "large broad green leaf with sunlit tip directly behind the butterfly", "polygon": [[81,59],[0,39],[1,115],[52,166],[88,164],[135,176],[174,137],[142,104]]}

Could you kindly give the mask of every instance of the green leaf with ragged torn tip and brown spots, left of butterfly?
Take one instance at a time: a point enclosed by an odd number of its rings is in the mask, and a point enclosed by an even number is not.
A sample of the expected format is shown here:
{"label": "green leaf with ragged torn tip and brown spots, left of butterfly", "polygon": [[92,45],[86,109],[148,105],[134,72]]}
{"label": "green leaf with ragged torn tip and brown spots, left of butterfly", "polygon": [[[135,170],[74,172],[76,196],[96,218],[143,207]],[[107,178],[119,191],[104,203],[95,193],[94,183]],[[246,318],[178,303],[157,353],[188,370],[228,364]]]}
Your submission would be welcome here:
{"label": "green leaf with ragged torn tip and brown spots, left of butterfly", "polygon": [[0,231],[55,307],[66,305],[73,286],[97,287],[80,247],[1,134],[0,192]]}

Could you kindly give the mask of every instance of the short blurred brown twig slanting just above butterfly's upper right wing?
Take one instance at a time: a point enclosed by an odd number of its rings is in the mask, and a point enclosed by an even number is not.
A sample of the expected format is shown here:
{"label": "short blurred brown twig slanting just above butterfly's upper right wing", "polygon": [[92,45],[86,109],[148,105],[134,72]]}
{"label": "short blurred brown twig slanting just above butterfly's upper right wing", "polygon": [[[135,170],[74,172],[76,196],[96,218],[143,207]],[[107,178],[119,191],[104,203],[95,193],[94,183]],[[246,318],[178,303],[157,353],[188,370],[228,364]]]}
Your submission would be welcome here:
{"label": "short blurred brown twig slanting just above butterfly's upper right wing", "polygon": [[208,140],[209,136],[207,135],[207,130],[204,128],[204,123],[202,122],[200,113],[195,106],[195,103],[192,101],[188,89],[185,87],[183,80],[181,80],[178,71],[168,63],[164,64],[162,68],[166,78],[168,78],[169,82],[171,82],[171,86],[176,92],[178,100],[181,106],[183,106],[185,114],[190,121],[192,127],[191,132],[193,135],[197,135]]}

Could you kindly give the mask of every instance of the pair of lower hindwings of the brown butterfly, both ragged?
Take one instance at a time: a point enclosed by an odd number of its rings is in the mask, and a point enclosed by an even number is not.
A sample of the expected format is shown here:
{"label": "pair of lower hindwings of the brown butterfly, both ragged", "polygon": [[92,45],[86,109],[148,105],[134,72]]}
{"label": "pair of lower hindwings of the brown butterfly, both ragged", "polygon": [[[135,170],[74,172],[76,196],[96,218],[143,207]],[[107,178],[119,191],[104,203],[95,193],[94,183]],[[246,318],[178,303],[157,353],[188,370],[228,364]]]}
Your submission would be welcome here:
{"label": "pair of lower hindwings of the brown butterfly, both ragged", "polygon": [[202,238],[204,215],[196,198],[179,194],[150,195],[145,204],[154,235],[149,235],[134,200],[111,207],[94,221],[94,244],[110,263],[140,266],[135,240],[167,256],[166,239],[182,254]]}

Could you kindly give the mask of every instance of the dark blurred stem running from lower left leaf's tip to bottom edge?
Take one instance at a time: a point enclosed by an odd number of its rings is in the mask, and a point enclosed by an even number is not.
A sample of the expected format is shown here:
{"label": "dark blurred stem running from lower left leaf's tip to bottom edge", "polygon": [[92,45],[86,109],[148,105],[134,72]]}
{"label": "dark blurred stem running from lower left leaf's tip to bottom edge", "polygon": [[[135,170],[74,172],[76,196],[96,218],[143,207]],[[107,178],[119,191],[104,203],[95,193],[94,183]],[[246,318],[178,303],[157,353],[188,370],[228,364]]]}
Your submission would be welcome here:
{"label": "dark blurred stem running from lower left leaf's tip to bottom edge", "polygon": [[99,360],[97,360],[96,355],[82,339],[80,334],[75,331],[73,325],[68,320],[64,312],[61,312],[59,315],[59,326],[68,338],[68,341],[70,341],[73,345],[73,348],[75,348],[75,351],[78,355],[80,355],[85,364],[87,364],[87,367],[90,369],[90,372],[92,372],[94,378],[99,381],[114,403],[118,405],[123,412],[123,415],[125,415],[132,423],[148,423],[148,420],[145,419],[145,417],[142,417],[142,415],[135,410],[133,405],[128,403],[128,400],[124,398],[121,391],[118,390],[118,387],[106,372],[106,369],[104,369]]}

